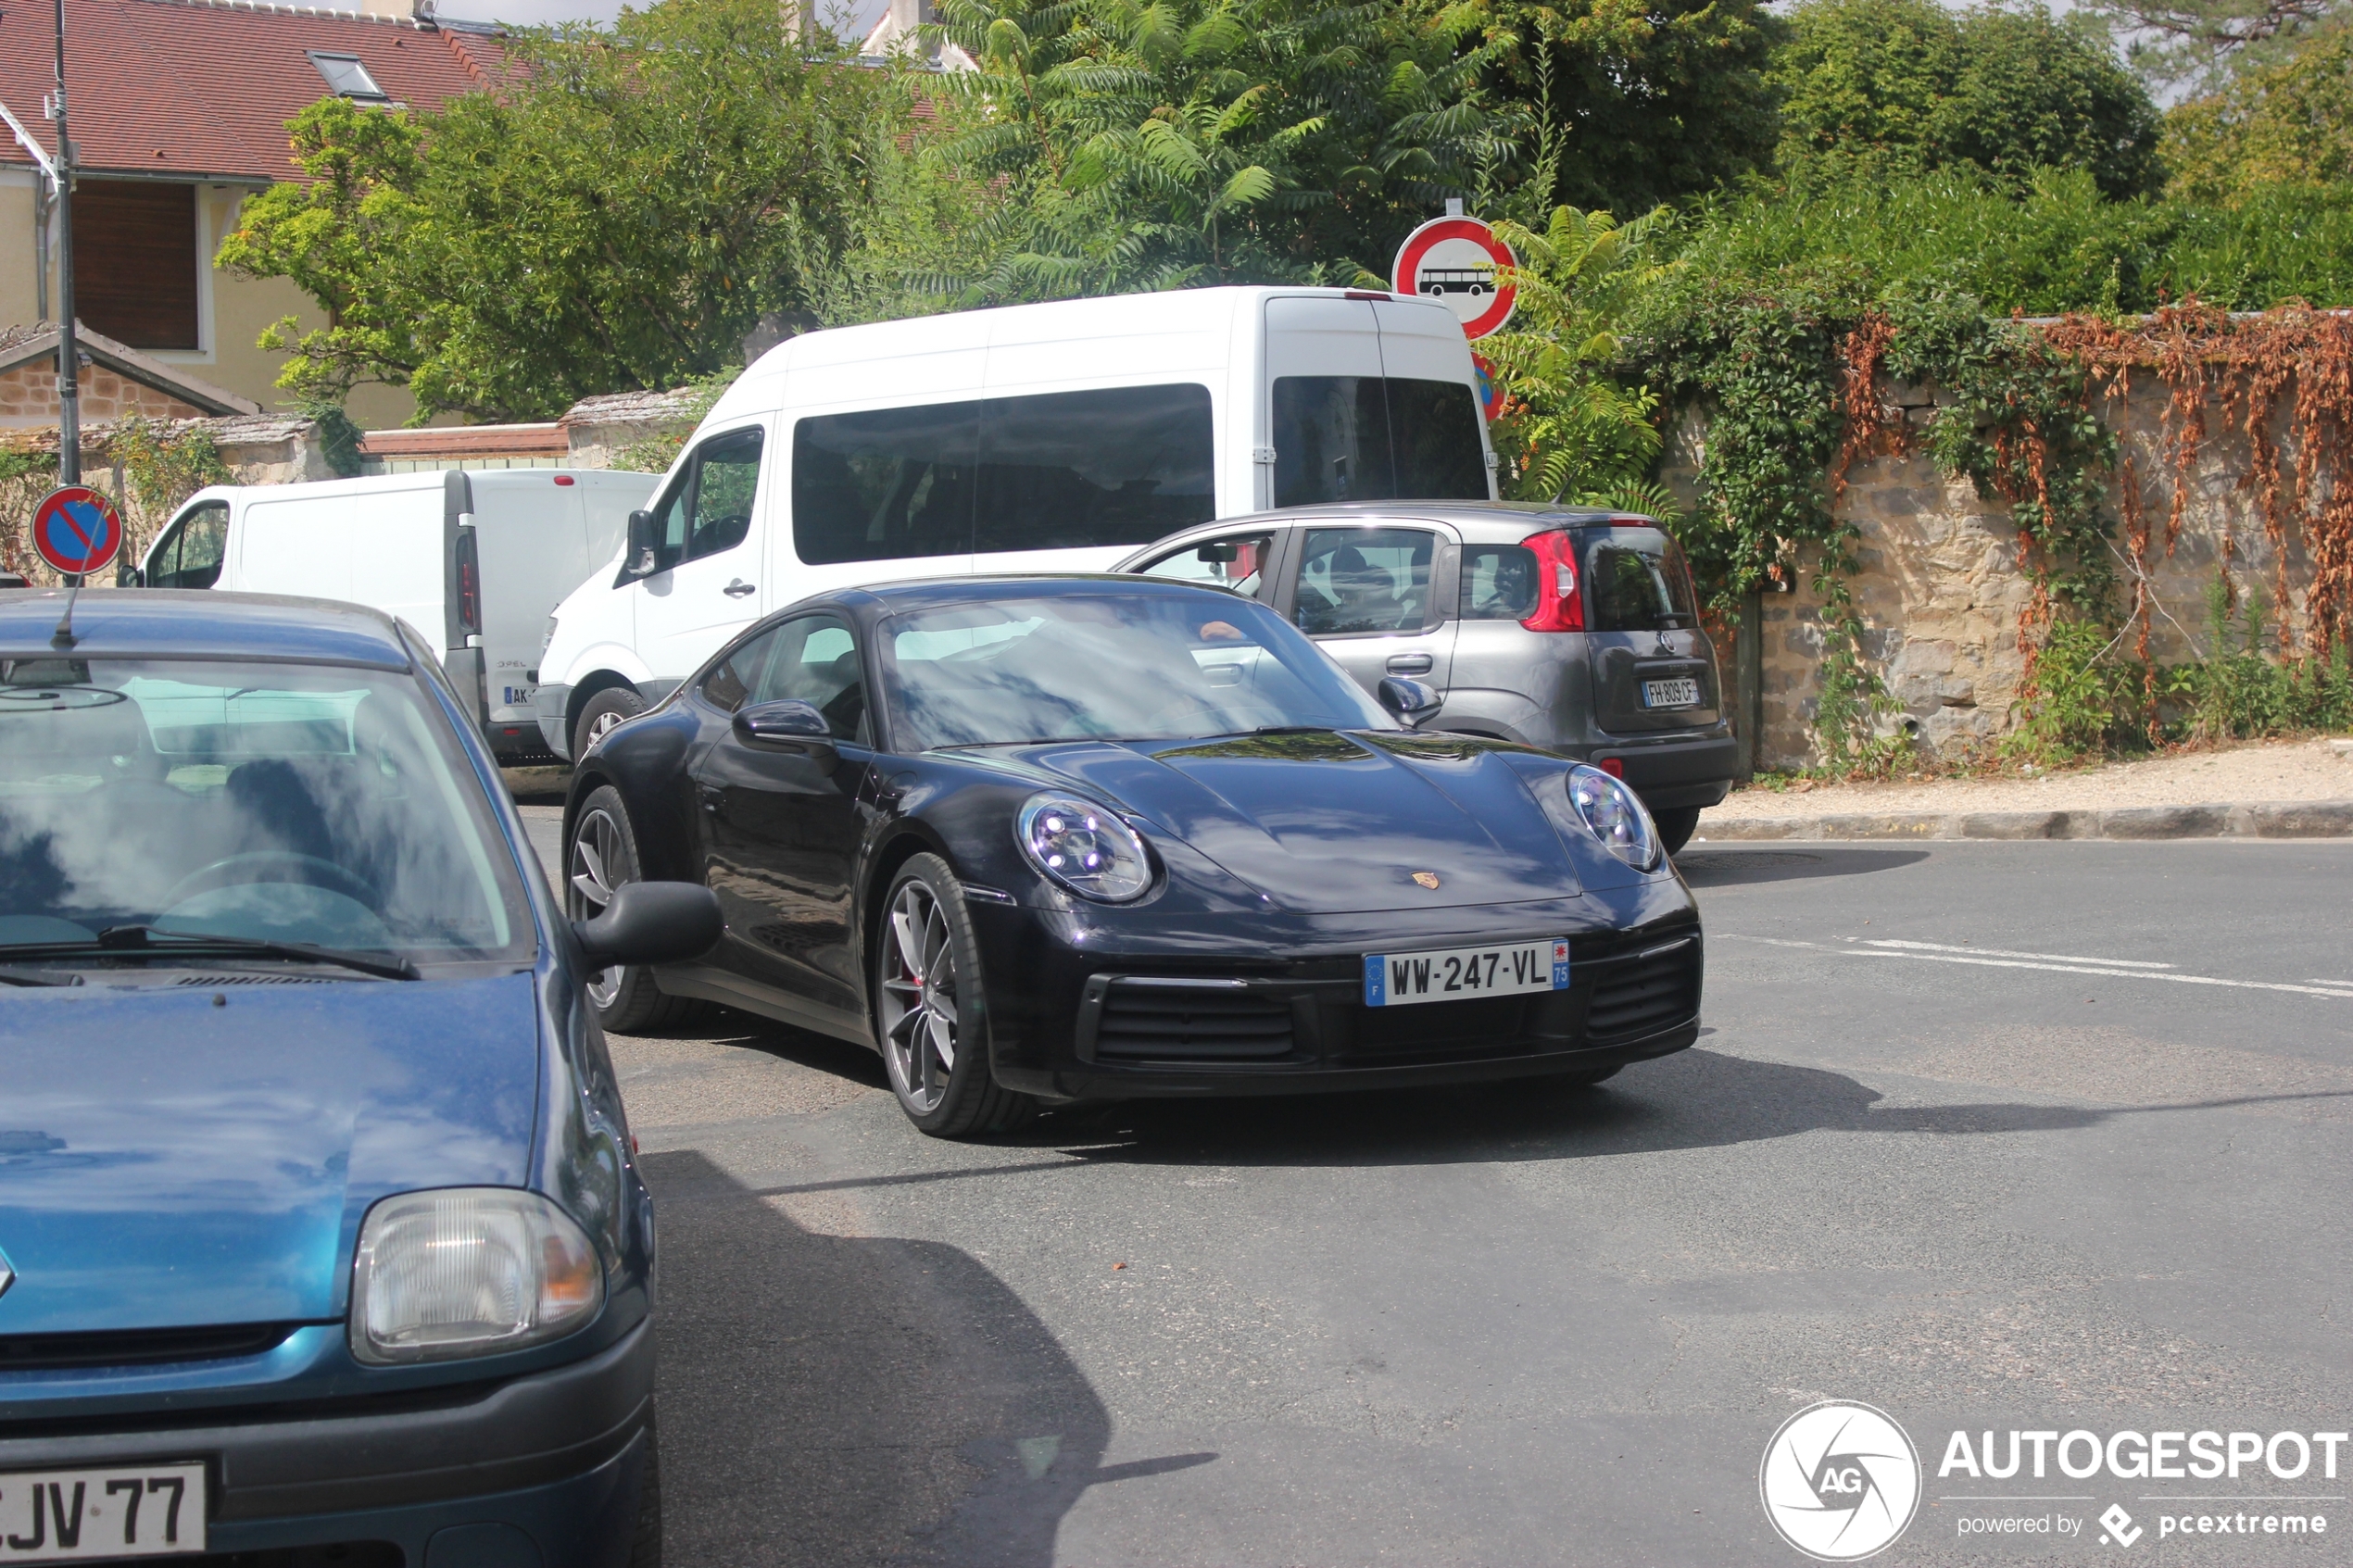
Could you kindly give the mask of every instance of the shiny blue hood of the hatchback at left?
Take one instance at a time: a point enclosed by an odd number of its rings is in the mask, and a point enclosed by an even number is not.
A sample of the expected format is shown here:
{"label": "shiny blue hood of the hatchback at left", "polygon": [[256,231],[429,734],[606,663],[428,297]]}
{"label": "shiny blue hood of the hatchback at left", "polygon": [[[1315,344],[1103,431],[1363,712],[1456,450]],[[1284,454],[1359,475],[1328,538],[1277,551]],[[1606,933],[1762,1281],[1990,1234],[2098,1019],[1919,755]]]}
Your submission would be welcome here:
{"label": "shiny blue hood of the hatchback at left", "polygon": [[527,973],[5,992],[0,1335],[336,1319],[367,1206],[525,1185],[536,1095]]}

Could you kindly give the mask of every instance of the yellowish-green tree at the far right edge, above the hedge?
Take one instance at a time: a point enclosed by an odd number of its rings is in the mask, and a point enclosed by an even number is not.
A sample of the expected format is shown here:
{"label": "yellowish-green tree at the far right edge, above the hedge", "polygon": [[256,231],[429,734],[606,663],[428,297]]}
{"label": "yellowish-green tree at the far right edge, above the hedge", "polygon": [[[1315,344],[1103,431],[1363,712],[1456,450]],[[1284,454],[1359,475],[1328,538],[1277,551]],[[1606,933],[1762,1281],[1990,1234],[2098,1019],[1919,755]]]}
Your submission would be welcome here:
{"label": "yellowish-green tree at the far right edge, above the hedge", "polygon": [[2353,183],[2353,26],[2165,115],[2174,195],[2240,202],[2266,186]]}

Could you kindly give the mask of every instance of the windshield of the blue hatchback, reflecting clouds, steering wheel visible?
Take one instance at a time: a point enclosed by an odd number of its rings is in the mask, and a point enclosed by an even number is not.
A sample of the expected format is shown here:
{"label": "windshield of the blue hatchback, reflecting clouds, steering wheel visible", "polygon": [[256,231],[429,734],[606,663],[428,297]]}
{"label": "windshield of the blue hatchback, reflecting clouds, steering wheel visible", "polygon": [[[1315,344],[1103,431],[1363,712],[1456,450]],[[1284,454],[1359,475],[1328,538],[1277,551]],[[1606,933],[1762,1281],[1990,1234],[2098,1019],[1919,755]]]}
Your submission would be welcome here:
{"label": "windshield of the blue hatchback, reflecting clouds, steering wheel visible", "polygon": [[428,703],[376,670],[0,661],[0,964],[122,926],[527,959],[506,839]]}

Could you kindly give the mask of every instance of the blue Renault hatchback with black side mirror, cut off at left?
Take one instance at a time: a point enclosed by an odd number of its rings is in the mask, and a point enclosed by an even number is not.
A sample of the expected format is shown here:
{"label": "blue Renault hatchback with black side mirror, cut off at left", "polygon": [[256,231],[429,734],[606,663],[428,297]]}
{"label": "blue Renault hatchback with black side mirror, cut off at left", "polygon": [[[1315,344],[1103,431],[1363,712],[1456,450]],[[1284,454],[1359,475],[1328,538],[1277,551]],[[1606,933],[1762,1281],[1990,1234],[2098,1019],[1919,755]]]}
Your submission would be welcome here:
{"label": "blue Renault hatchback with black side mirror, cut off at left", "polygon": [[659,1563],[654,1215],[435,651],[0,592],[0,1563]]}

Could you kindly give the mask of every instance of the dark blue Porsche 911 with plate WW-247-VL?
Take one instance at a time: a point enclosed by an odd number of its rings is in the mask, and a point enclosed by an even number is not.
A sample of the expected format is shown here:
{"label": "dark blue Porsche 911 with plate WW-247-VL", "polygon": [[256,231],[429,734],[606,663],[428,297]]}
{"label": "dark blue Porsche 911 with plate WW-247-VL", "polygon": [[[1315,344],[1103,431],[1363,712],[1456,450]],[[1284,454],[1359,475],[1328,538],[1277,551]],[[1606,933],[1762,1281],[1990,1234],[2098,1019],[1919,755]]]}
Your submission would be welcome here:
{"label": "dark blue Porsche 911 with plate WW-247-VL", "polygon": [[704,882],[701,961],[607,1027],[727,1001],[882,1051],[929,1133],[1045,1103],[1595,1084],[1699,1032],[1701,936],[1605,771],[1374,703],[1219,588],[948,578],[736,637],[576,764],[574,914]]}

